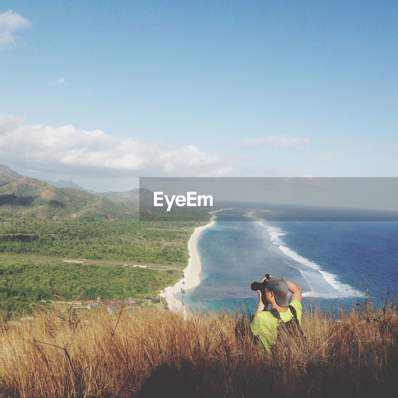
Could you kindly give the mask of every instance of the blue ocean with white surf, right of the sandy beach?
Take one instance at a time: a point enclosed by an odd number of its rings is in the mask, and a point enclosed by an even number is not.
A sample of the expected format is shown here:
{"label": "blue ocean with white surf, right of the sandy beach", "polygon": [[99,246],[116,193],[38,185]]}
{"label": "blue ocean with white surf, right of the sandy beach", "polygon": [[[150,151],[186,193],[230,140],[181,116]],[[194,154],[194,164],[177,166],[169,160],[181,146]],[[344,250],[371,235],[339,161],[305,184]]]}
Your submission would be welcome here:
{"label": "blue ocean with white surf, right of the sandy beach", "polygon": [[189,308],[253,312],[250,284],[265,273],[300,285],[307,308],[335,313],[363,304],[366,293],[376,304],[398,293],[397,221],[267,221],[267,213],[215,213],[197,242],[202,271],[183,296]]}

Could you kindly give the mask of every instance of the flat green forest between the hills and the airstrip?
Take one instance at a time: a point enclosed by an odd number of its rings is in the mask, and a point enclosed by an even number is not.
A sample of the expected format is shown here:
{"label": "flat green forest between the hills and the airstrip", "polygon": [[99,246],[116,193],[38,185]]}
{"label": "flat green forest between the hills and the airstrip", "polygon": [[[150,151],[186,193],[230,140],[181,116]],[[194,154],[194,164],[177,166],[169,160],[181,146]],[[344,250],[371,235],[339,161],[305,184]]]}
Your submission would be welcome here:
{"label": "flat green forest between the hills and the airstrip", "polygon": [[[0,250],[55,258],[183,265],[195,225],[132,220],[8,222],[0,224]],[[26,240],[21,236],[34,238]]]}

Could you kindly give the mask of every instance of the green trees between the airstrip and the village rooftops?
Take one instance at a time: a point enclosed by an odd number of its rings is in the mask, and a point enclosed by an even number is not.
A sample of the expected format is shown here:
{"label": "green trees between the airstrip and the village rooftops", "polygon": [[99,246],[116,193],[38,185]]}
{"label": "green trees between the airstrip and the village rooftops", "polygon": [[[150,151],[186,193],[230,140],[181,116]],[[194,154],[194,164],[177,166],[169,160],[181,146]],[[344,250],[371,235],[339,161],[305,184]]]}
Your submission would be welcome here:
{"label": "green trees between the airstrip and the village rooftops", "polygon": [[[177,281],[181,273],[175,277]],[[84,289],[81,300],[156,296],[170,283],[169,278],[170,274],[164,271],[118,265],[2,259],[0,316],[29,313],[39,300],[58,300],[54,297],[57,291],[66,300],[72,300]]]}

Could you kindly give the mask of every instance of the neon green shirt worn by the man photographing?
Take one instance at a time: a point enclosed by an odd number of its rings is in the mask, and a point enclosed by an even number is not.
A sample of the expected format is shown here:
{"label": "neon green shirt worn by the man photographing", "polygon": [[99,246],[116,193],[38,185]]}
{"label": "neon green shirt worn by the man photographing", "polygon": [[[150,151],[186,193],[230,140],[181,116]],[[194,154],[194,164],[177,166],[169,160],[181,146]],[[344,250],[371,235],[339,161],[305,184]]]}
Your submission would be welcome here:
{"label": "neon green shirt worn by the man photographing", "polygon": [[[292,300],[290,305],[295,308],[297,312],[298,323],[301,323],[302,307],[298,300]],[[288,322],[293,318],[290,308],[286,312],[280,312],[281,320]],[[278,320],[269,311],[261,311],[256,314],[250,323],[254,336],[260,336],[263,347],[270,351],[271,345],[275,343],[277,336]]]}

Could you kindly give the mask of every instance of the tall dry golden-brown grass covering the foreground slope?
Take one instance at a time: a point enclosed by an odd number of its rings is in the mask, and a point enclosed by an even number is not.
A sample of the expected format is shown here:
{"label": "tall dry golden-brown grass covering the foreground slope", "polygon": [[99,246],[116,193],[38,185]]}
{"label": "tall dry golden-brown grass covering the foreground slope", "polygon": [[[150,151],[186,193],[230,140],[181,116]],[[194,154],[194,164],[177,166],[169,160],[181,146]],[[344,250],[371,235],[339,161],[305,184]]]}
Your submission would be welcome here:
{"label": "tall dry golden-brown grass covering the foreground slope", "polygon": [[264,354],[239,313],[37,312],[1,325],[0,396],[396,396],[397,327],[389,308],[315,310]]}

